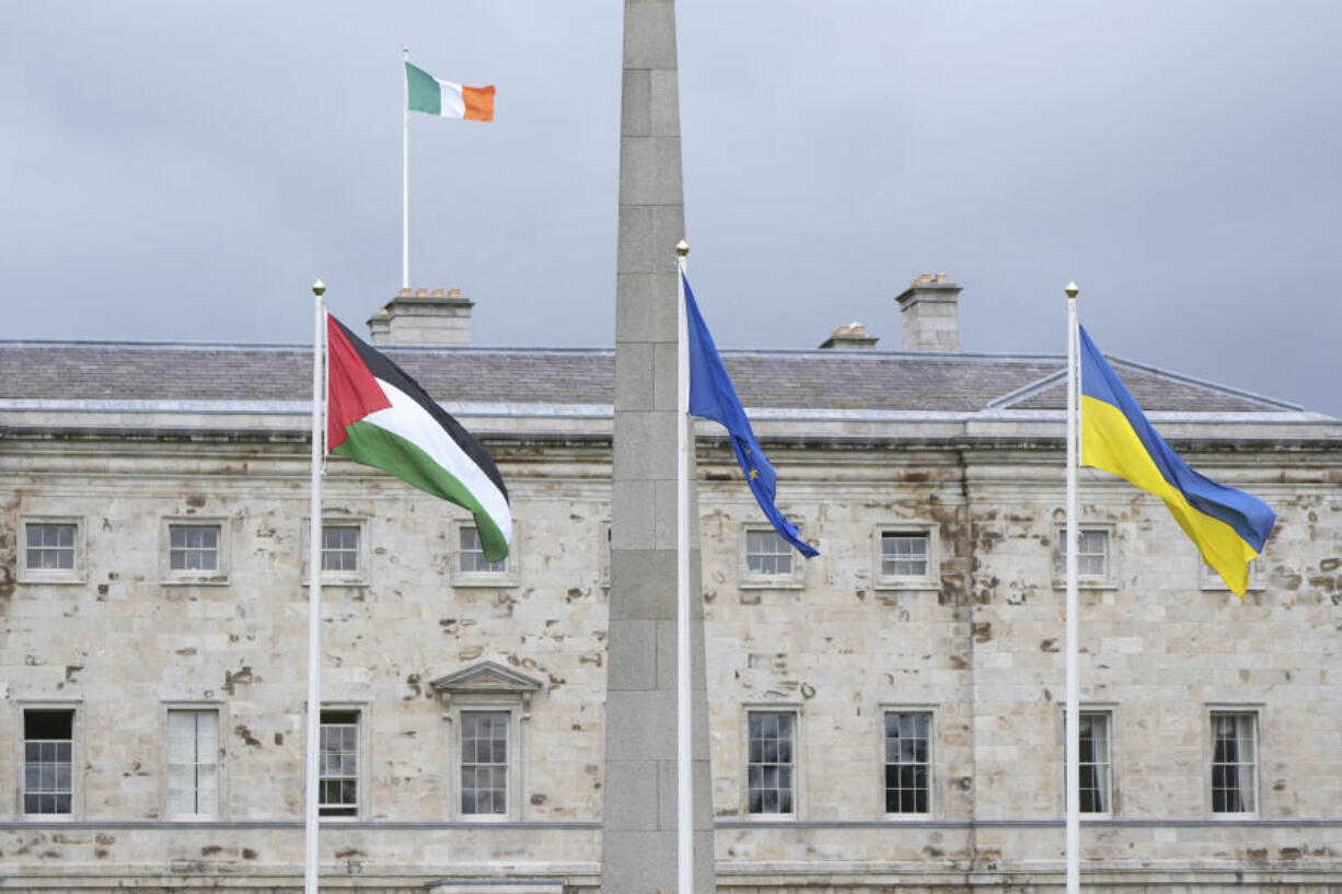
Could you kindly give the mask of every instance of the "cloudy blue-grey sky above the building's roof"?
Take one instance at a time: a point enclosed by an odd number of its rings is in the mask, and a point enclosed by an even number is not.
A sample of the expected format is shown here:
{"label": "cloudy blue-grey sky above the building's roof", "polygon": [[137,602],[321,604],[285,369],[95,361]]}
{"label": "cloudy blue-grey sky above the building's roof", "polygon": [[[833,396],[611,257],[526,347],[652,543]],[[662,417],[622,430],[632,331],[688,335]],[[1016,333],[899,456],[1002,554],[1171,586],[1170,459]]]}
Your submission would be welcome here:
{"label": "cloudy blue-grey sky above the building's roof", "polygon": [[[1114,354],[1342,416],[1342,4],[680,0],[695,291],[727,348]],[[3,338],[299,342],[411,279],[482,345],[613,342],[619,0],[0,0]]]}

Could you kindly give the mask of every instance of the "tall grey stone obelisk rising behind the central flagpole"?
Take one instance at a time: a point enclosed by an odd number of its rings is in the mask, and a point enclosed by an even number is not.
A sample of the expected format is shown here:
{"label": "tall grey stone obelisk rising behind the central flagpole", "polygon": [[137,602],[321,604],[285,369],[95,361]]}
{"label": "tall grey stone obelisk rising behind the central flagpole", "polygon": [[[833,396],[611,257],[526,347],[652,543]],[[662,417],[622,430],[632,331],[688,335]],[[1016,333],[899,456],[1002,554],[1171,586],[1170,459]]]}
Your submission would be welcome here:
{"label": "tall grey stone obelisk rising behind the central flagpole", "polygon": [[[601,890],[676,891],[675,3],[625,0],[615,293],[615,486]],[[694,479],[694,448],[690,447]],[[694,891],[713,894],[699,524],[690,502]]]}

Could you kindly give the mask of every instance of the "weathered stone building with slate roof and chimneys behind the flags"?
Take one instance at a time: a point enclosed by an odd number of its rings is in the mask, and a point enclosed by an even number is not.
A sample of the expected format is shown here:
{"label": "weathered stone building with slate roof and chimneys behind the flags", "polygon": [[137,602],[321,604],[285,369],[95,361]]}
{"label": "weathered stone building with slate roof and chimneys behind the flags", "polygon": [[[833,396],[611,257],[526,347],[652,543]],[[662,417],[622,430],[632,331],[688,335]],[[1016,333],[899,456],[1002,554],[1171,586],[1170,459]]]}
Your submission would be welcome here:
{"label": "weathered stone building with slate roof and chimneys behind the flags", "polygon": [[[701,423],[721,891],[1062,883],[1062,361],[957,352],[957,295],[914,282],[902,352],[726,353],[821,554],[777,549]],[[514,553],[329,460],[323,887],[595,890],[613,352],[474,348],[470,302],[409,297],[370,325],[493,452]],[[455,345],[421,344],[435,298]],[[0,887],[299,885],[309,364],[0,344]],[[1082,475],[1084,881],[1342,890],[1342,423],[1115,368],[1279,521],[1240,604]]]}

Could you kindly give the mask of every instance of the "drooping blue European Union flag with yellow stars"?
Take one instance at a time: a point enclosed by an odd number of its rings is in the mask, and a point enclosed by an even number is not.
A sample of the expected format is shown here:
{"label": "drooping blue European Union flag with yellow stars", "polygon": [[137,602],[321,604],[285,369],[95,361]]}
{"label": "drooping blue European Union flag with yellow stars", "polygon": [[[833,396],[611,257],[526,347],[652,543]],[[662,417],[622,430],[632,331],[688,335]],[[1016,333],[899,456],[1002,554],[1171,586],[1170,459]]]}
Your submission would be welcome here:
{"label": "drooping blue European Union flag with yellow stars", "polygon": [[808,558],[819,556],[820,550],[801,540],[797,526],[784,518],[774,506],[778,477],[760,450],[760,442],[756,440],[746,411],[741,407],[737,389],[731,387],[731,379],[722,365],[718,348],[713,344],[713,336],[699,315],[699,305],[690,291],[690,281],[683,274],[680,279],[684,283],[686,332],[690,340],[690,415],[711,419],[726,427],[731,435],[731,450],[737,454],[737,462],[741,463],[741,471],[750,485],[750,493],[756,495],[760,509],[773,524],[774,530],[803,556]]}

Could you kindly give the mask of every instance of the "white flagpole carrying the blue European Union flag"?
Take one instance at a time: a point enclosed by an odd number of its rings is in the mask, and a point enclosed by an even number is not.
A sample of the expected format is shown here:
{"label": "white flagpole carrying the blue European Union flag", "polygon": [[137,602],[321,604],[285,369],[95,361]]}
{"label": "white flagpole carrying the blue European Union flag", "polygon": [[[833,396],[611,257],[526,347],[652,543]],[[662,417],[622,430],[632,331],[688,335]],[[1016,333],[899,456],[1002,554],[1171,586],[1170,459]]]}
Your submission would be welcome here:
{"label": "white flagpole carrying the blue European Union flag", "polygon": [[684,270],[690,246],[676,254],[676,891],[694,894],[694,795],[690,785],[690,344]]}

